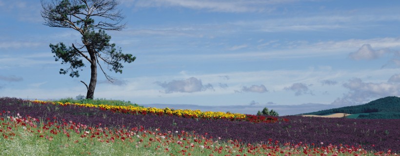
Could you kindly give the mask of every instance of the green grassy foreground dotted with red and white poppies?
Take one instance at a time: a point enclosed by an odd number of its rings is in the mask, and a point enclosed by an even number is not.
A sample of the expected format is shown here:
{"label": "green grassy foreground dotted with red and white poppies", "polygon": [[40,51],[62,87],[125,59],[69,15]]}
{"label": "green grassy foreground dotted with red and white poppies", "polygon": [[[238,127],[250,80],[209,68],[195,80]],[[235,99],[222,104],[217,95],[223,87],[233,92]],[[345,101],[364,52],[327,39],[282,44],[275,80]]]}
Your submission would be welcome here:
{"label": "green grassy foreground dotted with red and white poppies", "polygon": [[[5,115],[8,113],[6,112]],[[280,144],[272,140],[242,144],[188,132],[160,133],[143,127],[99,128],[33,117],[1,117],[0,146],[3,156],[374,156],[357,147],[313,147]],[[321,143],[322,144],[322,143]]]}

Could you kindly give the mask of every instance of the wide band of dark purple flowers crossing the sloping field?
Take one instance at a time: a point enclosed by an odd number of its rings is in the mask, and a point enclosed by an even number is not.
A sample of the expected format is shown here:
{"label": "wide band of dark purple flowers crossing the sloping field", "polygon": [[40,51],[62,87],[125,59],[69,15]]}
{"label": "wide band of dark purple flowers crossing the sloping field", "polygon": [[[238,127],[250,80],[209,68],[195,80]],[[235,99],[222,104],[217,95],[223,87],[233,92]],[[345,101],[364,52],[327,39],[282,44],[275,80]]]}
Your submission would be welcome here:
{"label": "wide band of dark purple flowers crossing the sloping field", "polygon": [[269,138],[281,143],[299,142],[320,145],[359,146],[374,151],[400,151],[400,119],[350,119],[285,116],[288,122],[251,123],[214,119],[193,119],[176,116],[131,115],[113,113],[98,108],[32,104],[18,98],[0,98],[0,111],[21,116],[65,119],[101,127],[160,128],[161,131],[195,131],[208,137],[237,139],[246,143],[267,142]]}

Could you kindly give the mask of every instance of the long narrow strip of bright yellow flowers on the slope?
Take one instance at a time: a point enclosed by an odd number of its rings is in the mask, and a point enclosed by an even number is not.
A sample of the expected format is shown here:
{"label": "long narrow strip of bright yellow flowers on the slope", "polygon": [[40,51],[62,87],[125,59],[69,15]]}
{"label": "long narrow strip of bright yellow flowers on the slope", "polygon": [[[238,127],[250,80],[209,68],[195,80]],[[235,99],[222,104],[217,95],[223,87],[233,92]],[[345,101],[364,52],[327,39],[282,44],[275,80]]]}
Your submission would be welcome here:
{"label": "long narrow strip of bright yellow flowers on the slope", "polygon": [[149,113],[149,114],[167,114],[167,115],[175,115],[179,117],[192,117],[192,118],[227,118],[227,119],[245,119],[246,115],[244,114],[239,114],[239,113],[224,113],[224,112],[211,112],[211,111],[206,111],[202,112],[200,110],[181,110],[181,109],[169,109],[169,108],[154,108],[154,107],[138,107],[138,106],[133,106],[133,105],[128,105],[128,106],[115,106],[115,105],[106,105],[106,104],[90,104],[90,103],[62,103],[62,102],[51,102],[51,101],[40,101],[40,100],[34,100],[32,102],[35,103],[51,103],[51,104],[58,104],[58,105],[77,105],[77,106],[83,106],[83,107],[96,107],[104,110],[126,110],[129,112],[137,112],[137,113]]}

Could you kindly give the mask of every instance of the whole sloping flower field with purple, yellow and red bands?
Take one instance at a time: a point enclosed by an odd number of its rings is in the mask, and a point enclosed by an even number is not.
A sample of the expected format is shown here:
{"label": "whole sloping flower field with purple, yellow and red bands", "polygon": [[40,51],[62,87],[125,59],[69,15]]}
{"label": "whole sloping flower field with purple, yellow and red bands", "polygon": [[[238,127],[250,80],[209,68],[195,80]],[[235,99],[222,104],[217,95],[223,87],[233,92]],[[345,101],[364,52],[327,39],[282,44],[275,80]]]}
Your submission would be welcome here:
{"label": "whole sloping flower field with purple, yellow and red bands", "polygon": [[127,107],[0,98],[2,154],[396,156],[400,151],[399,119]]}

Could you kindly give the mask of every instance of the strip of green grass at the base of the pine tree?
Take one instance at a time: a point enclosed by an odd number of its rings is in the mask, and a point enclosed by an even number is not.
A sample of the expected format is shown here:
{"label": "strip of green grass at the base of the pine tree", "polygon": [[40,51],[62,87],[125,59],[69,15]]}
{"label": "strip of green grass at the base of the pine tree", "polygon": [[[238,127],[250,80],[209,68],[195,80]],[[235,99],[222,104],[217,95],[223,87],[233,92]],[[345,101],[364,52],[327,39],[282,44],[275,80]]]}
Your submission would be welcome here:
{"label": "strip of green grass at the base of the pine tree", "polygon": [[124,101],[124,100],[111,100],[111,99],[104,99],[104,98],[97,98],[97,99],[73,99],[73,98],[61,98],[59,100],[52,100],[53,102],[70,102],[70,103],[91,103],[91,104],[107,104],[107,105],[115,105],[115,106],[140,106],[136,103],[132,103],[131,101]]}

